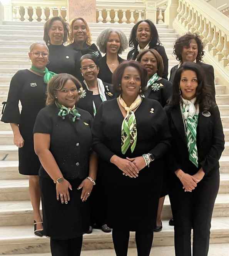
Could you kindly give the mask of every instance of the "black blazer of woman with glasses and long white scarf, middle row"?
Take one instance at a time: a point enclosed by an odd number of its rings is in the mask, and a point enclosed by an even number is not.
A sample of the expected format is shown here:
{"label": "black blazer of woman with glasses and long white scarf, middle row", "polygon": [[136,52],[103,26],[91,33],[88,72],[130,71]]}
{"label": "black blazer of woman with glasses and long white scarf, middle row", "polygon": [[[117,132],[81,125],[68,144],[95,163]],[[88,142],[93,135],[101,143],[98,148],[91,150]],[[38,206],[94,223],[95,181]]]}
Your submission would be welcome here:
{"label": "black blazer of woman with glasses and long white scarf, middle row", "polygon": [[[113,92],[113,86],[110,85],[109,83],[105,83],[103,82],[104,87],[105,87],[105,96],[107,98],[107,100],[111,100],[113,98],[115,98],[115,94]],[[82,82],[82,86],[86,92],[86,96],[84,98],[80,98],[79,101],[77,102],[77,107],[79,107],[80,109],[84,109],[87,110],[92,117],[94,117],[94,110],[93,110],[93,92],[87,90],[86,85],[84,84],[84,82]]]}

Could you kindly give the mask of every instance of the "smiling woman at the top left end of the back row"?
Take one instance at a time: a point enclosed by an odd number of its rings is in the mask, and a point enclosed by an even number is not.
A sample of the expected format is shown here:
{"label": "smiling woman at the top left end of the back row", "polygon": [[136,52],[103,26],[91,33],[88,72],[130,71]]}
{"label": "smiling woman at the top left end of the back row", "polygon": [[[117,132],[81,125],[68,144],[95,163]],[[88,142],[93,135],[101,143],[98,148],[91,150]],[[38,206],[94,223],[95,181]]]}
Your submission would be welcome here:
{"label": "smiling woman at the top left end of the back row", "polygon": [[80,53],[64,46],[69,35],[69,25],[62,17],[52,17],[45,22],[43,39],[49,49],[47,68],[57,74],[68,73],[80,79]]}

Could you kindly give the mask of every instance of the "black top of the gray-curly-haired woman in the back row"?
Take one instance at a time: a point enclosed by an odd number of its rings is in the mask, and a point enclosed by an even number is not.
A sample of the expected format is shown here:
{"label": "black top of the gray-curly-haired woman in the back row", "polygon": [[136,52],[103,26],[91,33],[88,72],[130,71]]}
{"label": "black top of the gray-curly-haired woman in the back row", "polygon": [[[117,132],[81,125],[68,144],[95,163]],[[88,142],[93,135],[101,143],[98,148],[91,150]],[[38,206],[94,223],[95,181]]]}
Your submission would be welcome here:
{"label": "black top of the gray-curly-haired woman in the back row", "polygon": [[[118,61],[119,64],[125,61],[125,59],[122,59],[118,56]],[[99,61],[99,74],[98,78],[100,78],[103,82],[105,83],[112,83],[112,75],[113,73],[111,72],[109,66],[107,65],[107,55],[100,59]]]}

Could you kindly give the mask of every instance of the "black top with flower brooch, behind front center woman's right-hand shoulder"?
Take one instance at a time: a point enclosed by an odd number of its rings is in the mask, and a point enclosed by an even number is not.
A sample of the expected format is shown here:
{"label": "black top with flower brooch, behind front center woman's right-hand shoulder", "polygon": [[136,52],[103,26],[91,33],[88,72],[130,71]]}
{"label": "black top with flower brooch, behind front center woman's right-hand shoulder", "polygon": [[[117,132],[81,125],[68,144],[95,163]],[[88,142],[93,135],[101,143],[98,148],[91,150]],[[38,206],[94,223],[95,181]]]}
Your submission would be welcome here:
{"label": "black top with flower brooch, behind front center woman's right-hand shoulder", "polygon": [[172,96],[172,83],[164,78],[157,80],[155,83],[158,85],[162,84],[163,86],[160,86],[156,92],[152,90],[152,86],[149,86],[144,95],[146,98],[157,100],[164,107],[167,104],[167,100]]}

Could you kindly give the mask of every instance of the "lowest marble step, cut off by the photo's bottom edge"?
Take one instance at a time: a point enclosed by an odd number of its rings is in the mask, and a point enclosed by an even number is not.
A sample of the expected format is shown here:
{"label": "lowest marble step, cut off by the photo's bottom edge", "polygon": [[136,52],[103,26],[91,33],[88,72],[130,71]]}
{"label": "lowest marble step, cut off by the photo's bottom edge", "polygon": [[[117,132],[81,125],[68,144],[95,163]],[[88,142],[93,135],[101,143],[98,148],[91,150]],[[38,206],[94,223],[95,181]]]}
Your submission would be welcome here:
{"label": "lowest marble step, cut off by the photo's bottom edge", "polygon": [[[228,256],[229,244],[210,244],[208,256]],[[83,250],[81,256],[115,256],[114,249]],[[152,246],[150,256],[173,256],[174,246]],[[8,254],[8,256],[51,256],[51,253]],[[137,256],[136,248],[128,249],[128,256]]]}

